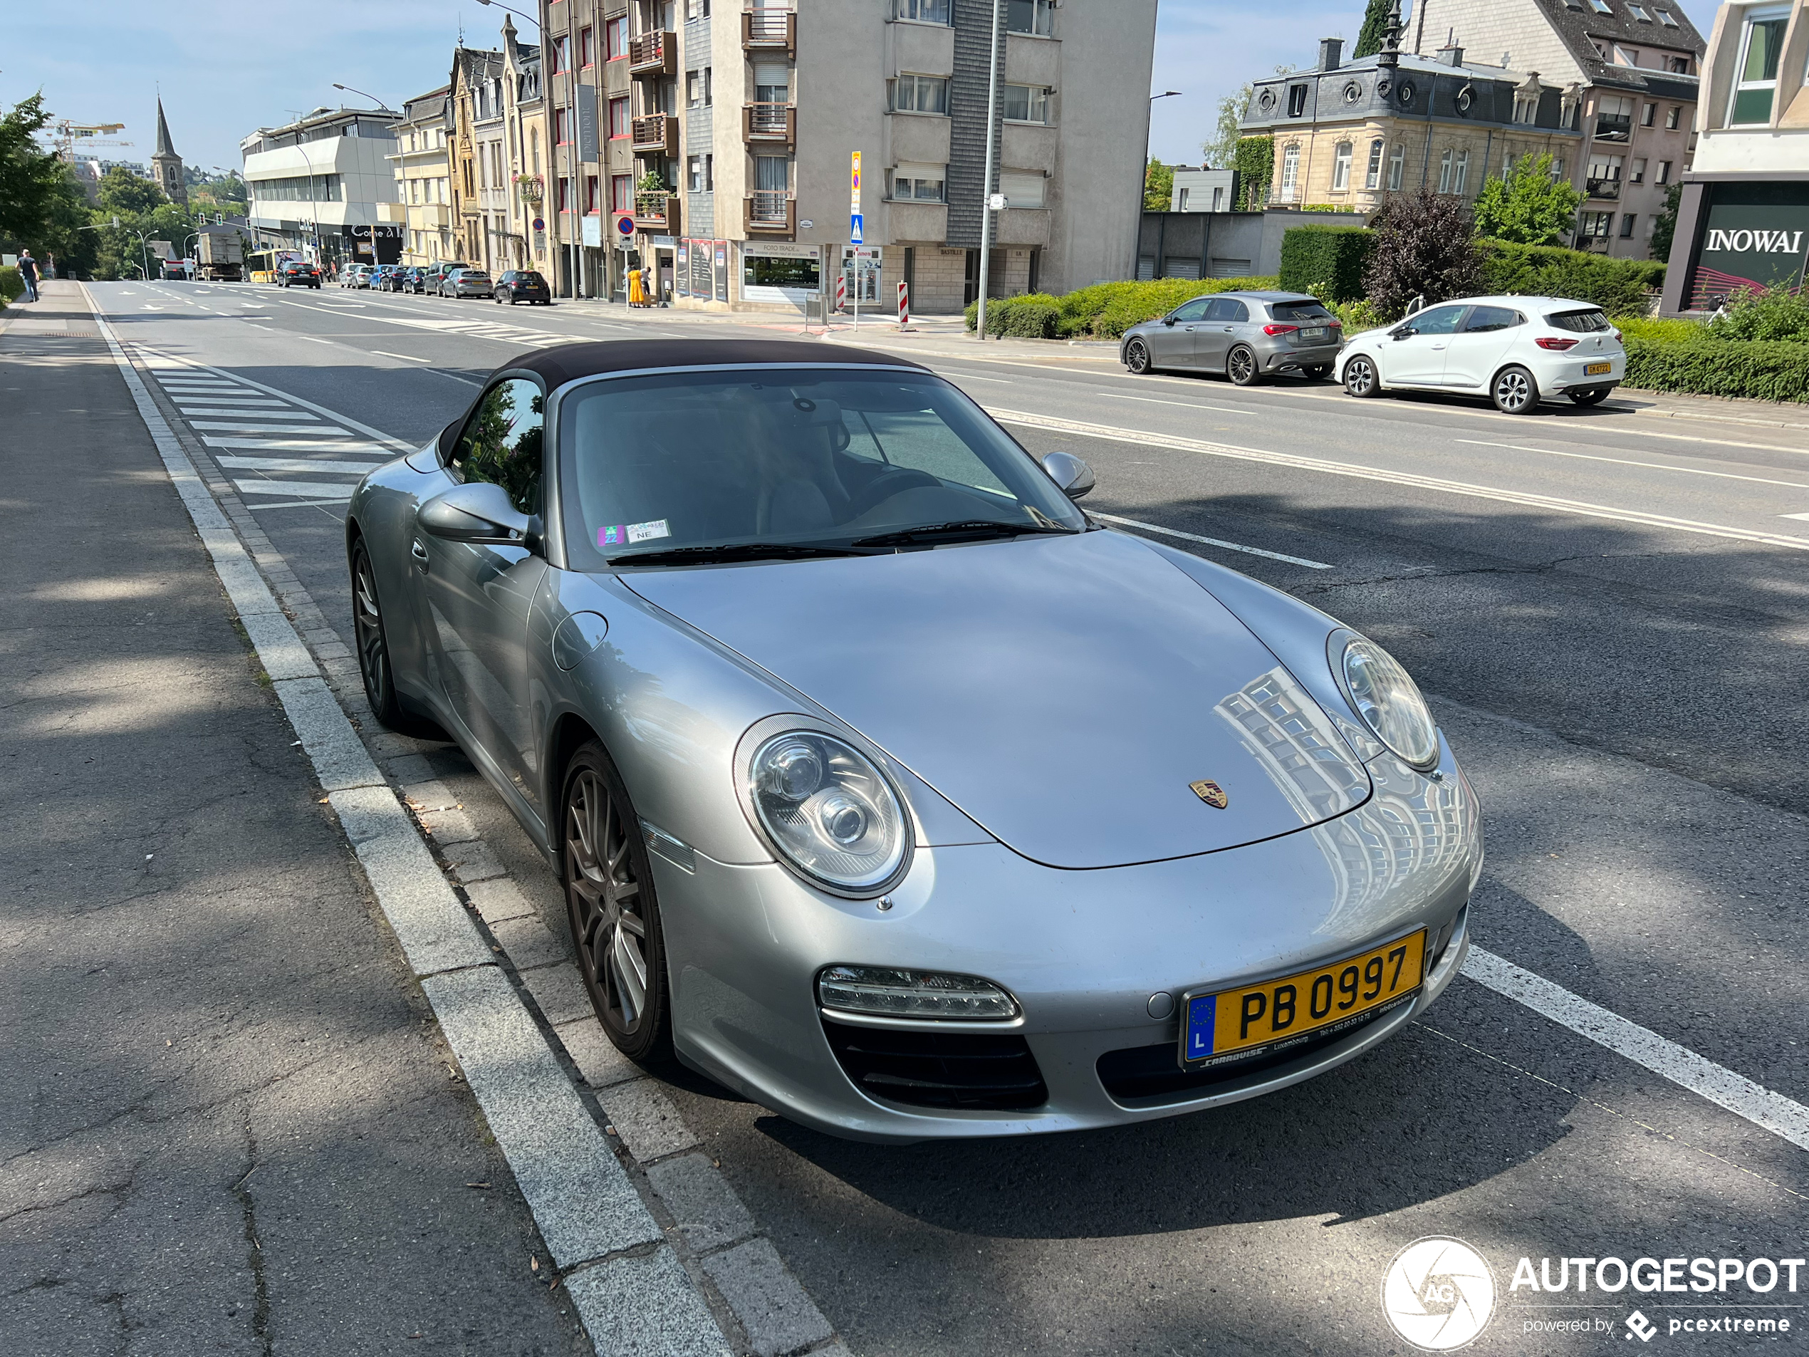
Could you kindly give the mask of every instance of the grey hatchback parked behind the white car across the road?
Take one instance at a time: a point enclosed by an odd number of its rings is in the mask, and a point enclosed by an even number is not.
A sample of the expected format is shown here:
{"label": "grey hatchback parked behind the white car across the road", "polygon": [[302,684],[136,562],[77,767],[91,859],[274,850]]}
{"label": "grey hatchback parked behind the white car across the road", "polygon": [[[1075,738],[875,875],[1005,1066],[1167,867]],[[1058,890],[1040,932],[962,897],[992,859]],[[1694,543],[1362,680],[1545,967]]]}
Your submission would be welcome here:
{"label": "grey hatchback parked behind the white car across the road", "polygon": [[1319,382],[1331,375],[1342,342],[1344,324],[1317,297],[1221,291],[1131,326],[1118,358],[1132,373],[1223,373],[1248,387],[1277,373]]}

